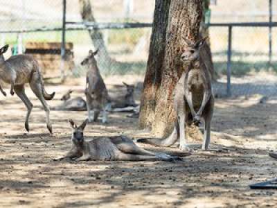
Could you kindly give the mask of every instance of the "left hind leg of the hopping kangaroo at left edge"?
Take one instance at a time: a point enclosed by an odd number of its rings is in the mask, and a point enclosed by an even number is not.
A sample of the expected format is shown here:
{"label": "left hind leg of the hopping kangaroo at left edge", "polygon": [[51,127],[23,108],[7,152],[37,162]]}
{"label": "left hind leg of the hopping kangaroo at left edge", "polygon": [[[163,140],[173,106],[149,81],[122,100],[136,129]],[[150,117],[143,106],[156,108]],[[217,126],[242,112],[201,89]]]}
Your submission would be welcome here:
{"label": "left hind leg of the hopping kangaroo at left edge", "polygon": [[30,117],[30,112],[33,109],[33,104],[30,102],[30,100],[28,99],[28,97],[25,94],[24,85],[15,85],[14,89],[15,89],[15,93],[17,94],[17,96],[19,96],[21,101],[23,101],[23,103],[27,107],[27,114],[26,114],[26,119],[25,119],[25,129],[26,129],[27,132],[29,132],[30,128],[29,128],[29,121],[28,120],[29,120],[29,117]]}

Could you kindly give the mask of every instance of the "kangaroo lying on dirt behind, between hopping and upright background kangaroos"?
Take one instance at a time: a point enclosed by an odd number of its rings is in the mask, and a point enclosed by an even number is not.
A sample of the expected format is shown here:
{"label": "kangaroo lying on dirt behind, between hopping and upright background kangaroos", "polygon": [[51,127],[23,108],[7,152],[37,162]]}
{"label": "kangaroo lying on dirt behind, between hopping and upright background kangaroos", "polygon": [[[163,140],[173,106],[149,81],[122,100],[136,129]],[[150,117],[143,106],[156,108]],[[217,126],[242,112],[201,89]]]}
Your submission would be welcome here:
{"label": "kangaroo lying on dirt behind, between hopping and upright background kangaroos", "polygon": [[61,98],[64,101],[61,105],[51,107],[51,110],[68,110],[68,111],[85,111],[87,110],[87,103],[82,97],[71,98],[73,90],[69,90]]}

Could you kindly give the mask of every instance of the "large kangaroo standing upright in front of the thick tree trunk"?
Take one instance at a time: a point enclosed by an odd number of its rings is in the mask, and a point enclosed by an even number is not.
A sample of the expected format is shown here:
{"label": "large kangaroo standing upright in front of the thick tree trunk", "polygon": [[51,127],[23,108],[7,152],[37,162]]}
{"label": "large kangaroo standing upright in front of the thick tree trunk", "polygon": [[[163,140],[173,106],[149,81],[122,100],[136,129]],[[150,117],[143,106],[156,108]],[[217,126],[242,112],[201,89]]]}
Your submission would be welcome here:
{"label": "large kangaroo standing upright in front of the thick tree trunk", "polygon": [[215,98],[211,87],[211,74],[199,55],[206,38],[197,42],[185,40],[187,47],[181,53],[181,62],[189,65],[175,87],[177,121],[172,134],[166,139],[139,139],[138,142],[157,146],[172,146],[179,139],[181,150],[190,150],[186,143],[186,126],[204,122],[202,150],[207,150],[211,140],[211,119]]}

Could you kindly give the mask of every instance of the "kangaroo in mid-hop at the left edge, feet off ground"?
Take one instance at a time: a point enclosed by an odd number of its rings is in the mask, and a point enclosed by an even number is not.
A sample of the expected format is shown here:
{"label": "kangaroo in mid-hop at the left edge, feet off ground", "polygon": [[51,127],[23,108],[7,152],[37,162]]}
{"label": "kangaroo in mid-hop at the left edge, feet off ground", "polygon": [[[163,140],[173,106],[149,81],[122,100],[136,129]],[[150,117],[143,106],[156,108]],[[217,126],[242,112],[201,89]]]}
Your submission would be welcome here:
{"label": "kangaroo in mid-hop at the left edge, feet off ground", "polygon": [[[33,109],[33,104],[26,96],[24,88],[24,85],[29,83],[30,88],[33,90],[35,96],[39,98],[39,101],[41,101],[44,107],[44,111],[46,112],[47,128],[52,134],[52,125],[49,119],[50,110],[45,100],[53,99],[55,92],[47,94],[44,89],[44,80],[39,69],[39,64],[32,56],[14,55],[8,58],[8,60],[5,60],[3,53],[6,53],[8,47],[9,45],[6,45],[0,49],[0,78],[5,83],[9,83],[11,85],[10,94],[14,95],[16,93],[27,107],[28,111],[25,119],[25,129],[27,132],[30,130],[28,119],[30,112]],[[4,96],[6,96],[6,92],[3,91],[1,86],[0,91]]]}

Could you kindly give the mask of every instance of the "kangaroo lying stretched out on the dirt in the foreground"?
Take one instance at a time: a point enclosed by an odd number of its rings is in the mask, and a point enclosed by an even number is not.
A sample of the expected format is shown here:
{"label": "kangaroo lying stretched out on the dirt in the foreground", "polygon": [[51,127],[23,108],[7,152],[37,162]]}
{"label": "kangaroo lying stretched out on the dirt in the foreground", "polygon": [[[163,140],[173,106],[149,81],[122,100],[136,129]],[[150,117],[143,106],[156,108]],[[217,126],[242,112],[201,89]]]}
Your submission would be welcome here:
{"label": "kangaroo lying stretched out on the dirt in the foreground", "polygon": [[105,137],[84,141],[84,128],[87,125],[86,119],[79,127],[74,121],[69,120],[72,128],[72,148],[62,159],[82,160],[129,160],[129,161],[175,161],[181,160],[177,156],[152,153],[136,146],[132,139],[124,136]]}

